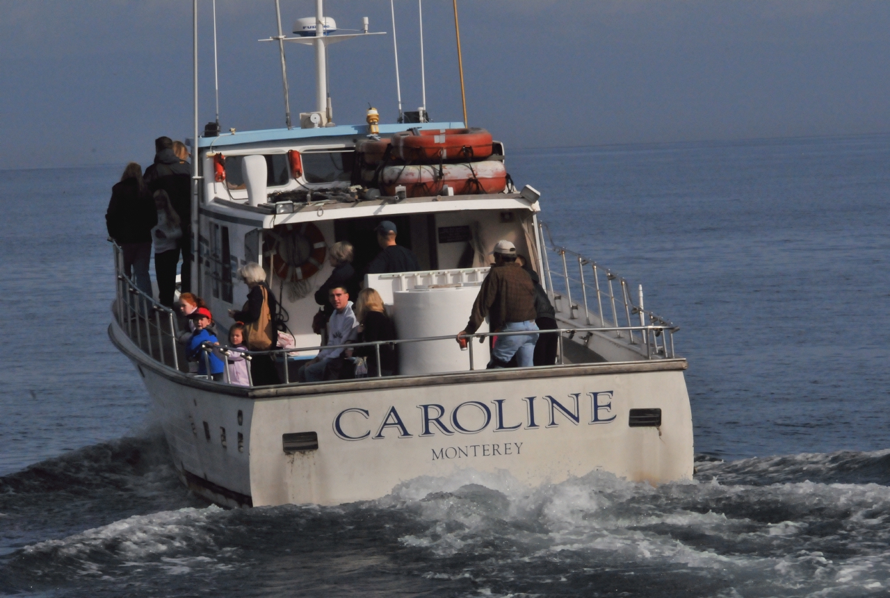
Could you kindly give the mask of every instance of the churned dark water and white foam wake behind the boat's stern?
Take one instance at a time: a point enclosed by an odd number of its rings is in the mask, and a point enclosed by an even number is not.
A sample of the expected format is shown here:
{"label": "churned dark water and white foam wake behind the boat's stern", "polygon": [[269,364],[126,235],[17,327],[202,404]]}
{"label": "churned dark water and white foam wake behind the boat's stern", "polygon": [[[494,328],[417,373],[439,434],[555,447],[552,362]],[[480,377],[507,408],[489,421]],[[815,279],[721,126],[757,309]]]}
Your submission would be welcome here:
{"label": "churned dark water and white foam wake behind the boat's stern", "polygon": [[[225,510],[157,437],[0,478],[0,592],[859,596],[890,587],[890,451],[700,458],[653,488],[457,472],[335,507]],[[104,520],[104,521],[101,521]],[[50,534],[53,530],[54,534]]]}

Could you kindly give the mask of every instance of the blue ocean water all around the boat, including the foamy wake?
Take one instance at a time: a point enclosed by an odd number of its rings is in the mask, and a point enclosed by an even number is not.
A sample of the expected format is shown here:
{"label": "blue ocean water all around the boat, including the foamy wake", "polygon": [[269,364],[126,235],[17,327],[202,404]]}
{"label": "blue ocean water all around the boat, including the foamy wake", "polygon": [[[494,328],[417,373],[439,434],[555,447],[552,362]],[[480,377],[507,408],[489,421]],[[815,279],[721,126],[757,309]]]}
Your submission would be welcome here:
{"label": "blue ocean water all around the boat, including the foamy wake", "polygon": [[698,473],[225,510],[106,335],[121,167],[0,171],[0,593],[890,594],[890,136],[514,152],[557,243],[682,330]]}

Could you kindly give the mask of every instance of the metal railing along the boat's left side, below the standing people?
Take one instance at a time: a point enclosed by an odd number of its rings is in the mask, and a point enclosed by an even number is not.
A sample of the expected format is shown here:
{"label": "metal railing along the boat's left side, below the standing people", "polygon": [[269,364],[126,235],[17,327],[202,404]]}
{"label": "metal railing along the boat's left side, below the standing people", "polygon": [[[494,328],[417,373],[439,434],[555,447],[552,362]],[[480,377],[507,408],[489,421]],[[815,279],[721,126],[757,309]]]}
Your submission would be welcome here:
{"label": "metal railing along the boat's left side, below the standing people", "polygon": [[153,359],[179,370],[182,345],[173,309],[162,306],[136,286],[124,271],[124,251],[114,247],[117,323]]}

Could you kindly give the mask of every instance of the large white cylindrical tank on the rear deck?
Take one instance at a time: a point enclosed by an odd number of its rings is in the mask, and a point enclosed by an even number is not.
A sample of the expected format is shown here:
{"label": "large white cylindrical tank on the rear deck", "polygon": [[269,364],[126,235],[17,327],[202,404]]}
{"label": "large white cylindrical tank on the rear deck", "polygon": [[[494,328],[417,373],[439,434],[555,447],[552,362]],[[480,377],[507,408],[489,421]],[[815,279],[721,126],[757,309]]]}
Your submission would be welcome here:
{"label": "large white cylindrical tank on the rear deck", "polygon": [[[446,335],[451,337],[445,340],[401,343],[399,373],[432,374],[470,369],[469,349],[461,351],[454,337],[463,330],[470,318],[480,285],[481,283],[430,285],[392,293],[393,319],[400,339]],[[488,323],[482,323],[478,332],[487,331]],[[474,369],[484,370],[488,363],[488,342],[480,344],[478,339],[473,339]]]}

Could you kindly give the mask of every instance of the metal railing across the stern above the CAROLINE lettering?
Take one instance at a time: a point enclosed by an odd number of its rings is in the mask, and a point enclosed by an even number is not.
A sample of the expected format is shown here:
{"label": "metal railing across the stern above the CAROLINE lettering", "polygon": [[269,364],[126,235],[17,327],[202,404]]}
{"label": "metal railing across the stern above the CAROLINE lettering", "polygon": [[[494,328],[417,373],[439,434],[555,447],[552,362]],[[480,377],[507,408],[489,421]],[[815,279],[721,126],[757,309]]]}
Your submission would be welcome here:
{"label": "metal railing across the stern above the CAROLINE lettering", "polygon": [[[578,327],[578,328],[556,328],[556,329],[544,329],[540,331],[501,331],[501,332],[474,332],[473,334],[462,334],[461,339],[466,339],[466,353],[467,360],[469,363],[469,371],[477,371],[476,370],[476,362],[473,354],[473,339],[480,339],[479,342],[483,342],[485,339],[489,337],[507,337],[507,336],[528,336],[530,334],[558,334],[557,342],[558,342],[558,351],[556,357],[556,363],[554,366],[550,367],[559,367],[564,365],[570,365],[570,363],[565,363],[564,353],[562,350],[563,343],[565,340],[572,339],[576,334],[588,332],[638,332],[641,337],[653,337],[653,336],[662,336],[667,332],[667,327],[658,326],[658,325],[645,325],[645,326],[606,326],[606,327]],[[434,342],[440,340],[452,340],[457,342],[457,335],[448,335],[448,336],[439,336],[439,337],[423,337],[420,339],[392,339],[392,340],[373,340],[368,342],[355,342],[355,343],[347,343],[344,345],[319,345],[315,347],[283,347],[283,348],[275,348],[269,349],[266,351],[241,351],[239,350],[239,355],[242,355],[247,362],[249,363],[253,358],[258,355],[268,355],[272,358],[273,361],[278,361],[281,359],[284,362],[283,374],[284,374],[284,384],[292,384],[295,380],[290,379],[290,372],[287,367],[287,358],[290,356],[295,356],[298,354],[305,354],[311,351],[321,351],[325,349],[354,349],[357,347],[374,347],[374,355],[376,356],[376,373],[373,374],[376,378],[383,377],[383,370],[381,369],[380,362],[380,347],[388,346],[388,347],[397,347],[400,345],[409,345],[411,343],[424,343],[424,342]],[[664,358],[664,357],[673,357],[673,354],[664,355],[659,354],[654,351],[654,344],[650,344],[648,342],[645,343],[645,346],[650,348],[651,351],[646,355],[647,359],[656,359],[656,358]],[[211,343],[204,343],[201,345],[201,349],[203,351],[202,359],[204,360],[204,365],[206,371],[210,371],[210,354],[214,352],[220,352],[224,355],[230,355],[234,353],[231,347],[220,347],[218,345],[214,345]],[[231,382],[231,372],[229,371],[229,360],[223,361],[223,380],[226,383]],[[308,362],[308,359],[306,360]],[[535,366],[535,367],[546,367],[546,366]],[[454,373],[454,372],[436,372],[436,373]],[[250,377],[250,368],[247,368],[247,375],[250,381],[250,386],[254,386],[253,379]],[[368,376],[371,377],[371,372],[368,372]]]}

